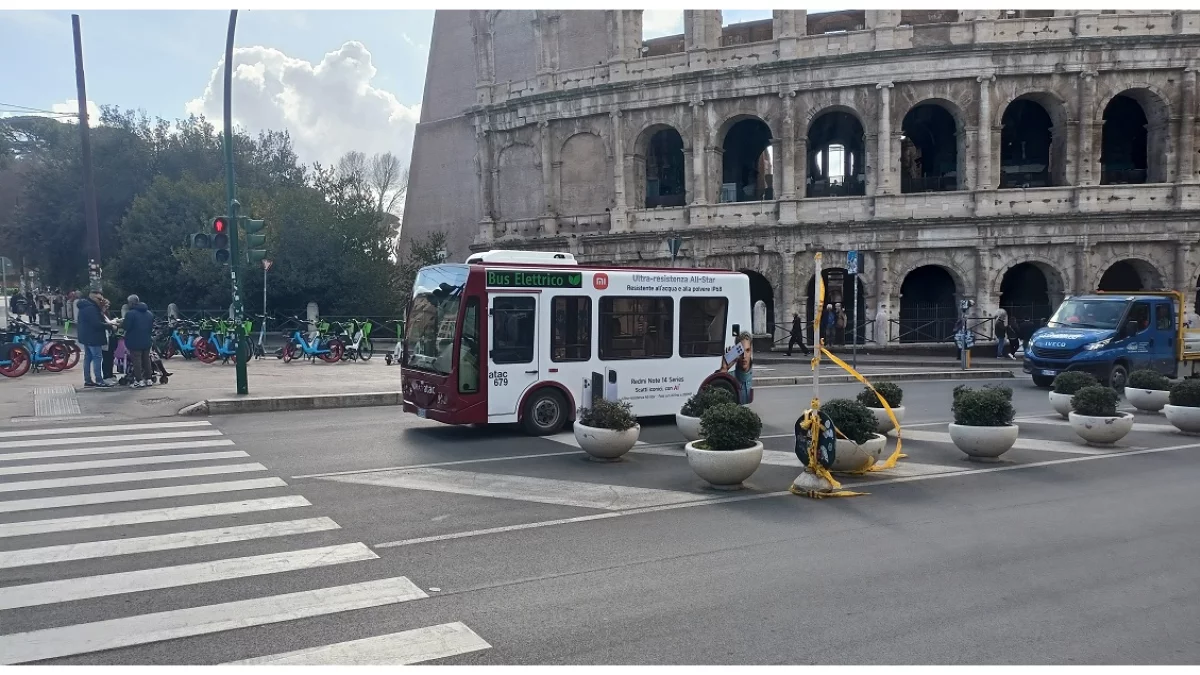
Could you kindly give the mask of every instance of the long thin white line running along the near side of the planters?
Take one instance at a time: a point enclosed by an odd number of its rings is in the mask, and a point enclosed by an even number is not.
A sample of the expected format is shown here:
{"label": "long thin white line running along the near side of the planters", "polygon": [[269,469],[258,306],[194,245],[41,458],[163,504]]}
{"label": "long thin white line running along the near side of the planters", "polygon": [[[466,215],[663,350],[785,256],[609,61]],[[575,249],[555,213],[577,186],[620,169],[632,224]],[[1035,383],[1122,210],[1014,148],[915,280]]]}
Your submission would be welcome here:
{"label": "long thin white line running along the near side of the planters", "polygon": [[[1079,455],[1079,456],[1073,456],[1073,458],[1051,459],[1051,460],[1044,460],[1044,461],[1033,461],[1033,462],[1028,462],[1028,464],[1013,464],[1013,465],[1004,465],[1004,466],[989,466],[989,467],[983,467],[983,468],[967,468],[965,471],[944,471],[944,472],[938,472],[938,473],[925,473],[925,474],[922,474],[922,476],[896,476],[894,478],[888,478],[887,473],[881,472],[881,473],[877,474],[880,477],[878,479],[860,480],[860,482],[847,482],[847,483],[842,483],[842,488],[872,488],[872,486],[877,486],[877,485],[888,485],[888,484],[893,484],[893,483],[913,483],[913,482],[917,482],[917,480],[934,480],[934,479],[937,479],[937,478],[959,478],[959,477],[965,477],[965,476],[971,476],[971,474],[977,474],[977,473],[996,473],[996,472],[1001,472],[1001,471],[1020,471],[1022,468],[1036,468],[1036,467],[1039,467],[1039,466],[1054,466],[1054,465],[1058,465],[1058,464],[1072,464],[1072,462],[1078,462],[1078,461],[1091,461],[1091,460],[1099,460],[1099,459],[1127,458],[1127,456],[1132,456],[1132,455],[1146,455],[1146,454],[1156,454],[1156,453],[1169,453],[1169,452],[1174,452],[1174,450],[1187,450],[1187,449],[1192,449],[1192,448],[1200,448],[1200,443],[1188,443],[1188,444],[1184,444],[1184,446],[1171,446],[1171,447],[1168,447],[1168,448],[1145,448],[1145,449],[1139,449],[1139,450],[1129,450],[1129,452],[1123,452],[1123,453],[1105,453],[1105,454],[1099,454],[1099,455]],[[716,498],[704,500],[704,501],[698,501],[698,502],[685,502],[685,503],[678,503],[678,504],[665,504],[665,506],[646,507],[646,508],[637,508],[637,509],[629,509],[629,510],[614,510],[614,512],[607,512],[607,513],[593,513],[590,515],[578,515],[578,516],[575,516],[575,518],[560,518],[560,519],[557,519],[557,520],[542,520],[542,521],[538,521],[538,522],[522,522],[520,525],[504,525],[504,526],[500,526],[500,527],[487,527],[487,528],[484,528],[484,530],[468,530],[468,531],[464,531],[464,532],[451,532],[449,534],[433,534],[433,536],[430,536],[430,537],[418,537],[418,538],[413,538],[413,539],[398,539],[398,540],[395,540],[395,542],[383,542],[383,543],[376,544],[373,548],[376,548],[376,549],[394,549],[394,548],[397,548],[397,546],[412,546],[412,545],[416,545],[416,544],[428,544],[428,543],[433,543],[433,542],[449,542],[451,539],[466,539],[466,538],[472,538],[472,537],[484,537],[484,536],[487,536],[487,534],[503,534],[505,532],[518,532],[518,531],[523,531],[523,530],[539,530],[541,527],[552,527],[552,526],[556,526],[556,525],[570,525],[570,524],[575,524],[575,522],[590,522],[593,520],[607,520],[610,518],[624,518],[626,515],[640,515],[640,514],[643,514],[643,513],[658,513],[658,512],[661,512],[661,510],[674,510],[674,509],[679,509],[679,508],[692,508],[692,507],[701,507],[701,506],[707,507],[707,506],[724,504],[724,503],[731,503],[731,502],[748,502],[748,501],[757,501],[757,500],[769,500],[769,498],[774,498],[774,497],[785,497],[785,496],[791,496],[791,495],[792,495],[792,492],[790,492],[787,490],[780,490],[778,492],[757,492],[757,494],[752,494],[752,495],[737,495],[737,496],[732,496],[732,497],[716,497]]]}

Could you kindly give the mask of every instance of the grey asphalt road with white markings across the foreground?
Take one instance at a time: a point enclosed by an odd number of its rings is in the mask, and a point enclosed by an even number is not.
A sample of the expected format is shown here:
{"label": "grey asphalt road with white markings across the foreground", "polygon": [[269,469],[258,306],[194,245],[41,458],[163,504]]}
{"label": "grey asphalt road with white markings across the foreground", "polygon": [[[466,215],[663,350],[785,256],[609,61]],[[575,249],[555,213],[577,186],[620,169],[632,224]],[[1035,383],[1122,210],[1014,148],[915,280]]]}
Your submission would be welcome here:
{"label": "grey asphalt road with white markings across the foreground", "polygon": [[[786,492],[808,387],[758,392],[767,460],[734,495],[701,485],[668,422],[647,420],[617,464],[569,435],[378,408],[10,428],[0,662],[211,664],[383,635],[304,658],[1200,661],[1200,438],[1139,414],[1120,447],[1087,448],[1043,390],[1009,383],[1021,441],[1003,462],[967,462],[944,437],[956,383],[908,383],[908,458],[846,479],[869,495],[822,501]],[[187,436],[114,438],[157,434]],[[196,453],[245,456],[149,461]],[[106,460],[126,461],[52,466]],[[149,476],[180,467],[220,473]],[[96,476],[109,482],[80,484]],[[244,480],[262,484],[229,485]]]}

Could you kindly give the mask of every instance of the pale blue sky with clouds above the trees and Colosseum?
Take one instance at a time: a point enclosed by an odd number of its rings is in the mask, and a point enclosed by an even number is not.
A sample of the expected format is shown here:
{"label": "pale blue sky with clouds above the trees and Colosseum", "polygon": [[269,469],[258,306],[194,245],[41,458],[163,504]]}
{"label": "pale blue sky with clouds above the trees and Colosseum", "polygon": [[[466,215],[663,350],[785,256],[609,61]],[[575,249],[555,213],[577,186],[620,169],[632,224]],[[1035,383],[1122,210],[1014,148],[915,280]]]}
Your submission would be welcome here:
{"label": "pale blue sky with clouds above the trees and Colosseum", "polygon": [[[220,115],[220,83],[212,77],[223,56],[227,12],[79,16],[90,101],[167,119],[190,110]],[[724,13],[725,23],[769,16],[769,10]],[[678,34],[683,11],[650,10],[644,23],[647,37]],[[245,52],[234,59],[234,117],[252,130],[287,127],[305,161],[332,161],[358,149],[391,150],[407,163],[432,26],[431,10],[239,12],[236,44]],[[361,47],[346,47],[353,42]],[[66,108],[76,100],[71,12],[0,12],[0,64],[6,104],[0,110]]]}

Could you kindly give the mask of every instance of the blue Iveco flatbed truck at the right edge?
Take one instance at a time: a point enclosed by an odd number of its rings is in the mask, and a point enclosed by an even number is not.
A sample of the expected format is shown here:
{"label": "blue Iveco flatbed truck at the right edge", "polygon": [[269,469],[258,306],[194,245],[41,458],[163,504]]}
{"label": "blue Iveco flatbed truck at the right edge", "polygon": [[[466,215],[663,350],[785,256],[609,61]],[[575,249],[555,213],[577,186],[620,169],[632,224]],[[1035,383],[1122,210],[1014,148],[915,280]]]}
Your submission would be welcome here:
{"label": "blue Iveco flatbed truck at the right edge", "polygon": [[1050,387],[1060,372],[1081,370],[1118,390],[1134,370],[1196,377],[1200,331],[1186,330],[1183,318],[1177,291],[1069,297],[1033,334],[1024,370],[1038,387]]}

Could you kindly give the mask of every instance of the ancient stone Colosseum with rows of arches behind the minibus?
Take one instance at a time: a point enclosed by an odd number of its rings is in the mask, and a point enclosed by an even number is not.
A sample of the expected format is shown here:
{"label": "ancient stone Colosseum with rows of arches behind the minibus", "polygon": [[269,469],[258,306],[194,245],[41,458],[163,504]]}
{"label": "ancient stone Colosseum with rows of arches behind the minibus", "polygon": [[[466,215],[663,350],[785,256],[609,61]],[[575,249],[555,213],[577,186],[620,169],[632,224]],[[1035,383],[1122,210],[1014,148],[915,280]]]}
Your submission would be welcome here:
{"label": "ancient stone Colosseum with rows of arches behind the minibus", "polygon": [[781,327],[823,251],[892,342],[960,299],[1193,301],[1198,65],[1200,11],[685,11],[647,40],[641,11],[438,11],[404,238],[738,269]]}

